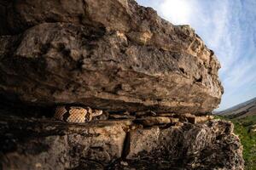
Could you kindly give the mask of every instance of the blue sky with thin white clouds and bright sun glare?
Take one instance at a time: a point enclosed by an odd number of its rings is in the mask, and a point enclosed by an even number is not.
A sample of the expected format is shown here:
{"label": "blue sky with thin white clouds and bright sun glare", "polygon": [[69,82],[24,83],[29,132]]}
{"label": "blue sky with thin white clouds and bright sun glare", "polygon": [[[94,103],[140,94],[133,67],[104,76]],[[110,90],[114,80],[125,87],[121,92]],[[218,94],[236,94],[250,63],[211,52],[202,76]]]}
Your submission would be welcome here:
{"label": "blue sky with thin white clouds and bright sun glare", "polygon": [[218,110],[256,97],[256,0],[137,0],[175,25],[189,24],[218,57]]}

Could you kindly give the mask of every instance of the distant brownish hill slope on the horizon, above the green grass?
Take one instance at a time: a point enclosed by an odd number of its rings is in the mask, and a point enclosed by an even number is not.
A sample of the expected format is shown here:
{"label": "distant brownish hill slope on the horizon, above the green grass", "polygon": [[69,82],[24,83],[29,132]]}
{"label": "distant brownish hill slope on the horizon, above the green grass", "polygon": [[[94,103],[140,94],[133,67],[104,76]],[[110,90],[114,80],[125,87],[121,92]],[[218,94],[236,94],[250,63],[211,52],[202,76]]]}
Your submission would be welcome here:
{"label": "distant brownish hill slope on the horizon, above the green grass", "polygon": [[216,114],[229,116],[230,118],[242,118],[245,116],[256,115],[256,98],[250,99],[239,105],[235,105],[230,109],[218,111]]}

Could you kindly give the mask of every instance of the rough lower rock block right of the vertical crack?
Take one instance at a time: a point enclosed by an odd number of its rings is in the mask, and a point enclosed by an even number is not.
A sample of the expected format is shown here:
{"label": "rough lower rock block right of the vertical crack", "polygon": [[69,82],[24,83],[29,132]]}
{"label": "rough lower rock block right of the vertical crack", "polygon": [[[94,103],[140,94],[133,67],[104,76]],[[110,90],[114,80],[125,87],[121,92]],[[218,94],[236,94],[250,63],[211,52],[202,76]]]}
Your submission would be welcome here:
{"label": "rough lower rock block right of the vertical crack", "polygon": [[[143,164],[139,160],[150,160],[144,162],[144,168],[243,169],[242,147],[230,122],[135,129],[130,132],[128,150],[126,158],[133,160],[133,165]],[[155,158],[158,163],[153,161]]]}

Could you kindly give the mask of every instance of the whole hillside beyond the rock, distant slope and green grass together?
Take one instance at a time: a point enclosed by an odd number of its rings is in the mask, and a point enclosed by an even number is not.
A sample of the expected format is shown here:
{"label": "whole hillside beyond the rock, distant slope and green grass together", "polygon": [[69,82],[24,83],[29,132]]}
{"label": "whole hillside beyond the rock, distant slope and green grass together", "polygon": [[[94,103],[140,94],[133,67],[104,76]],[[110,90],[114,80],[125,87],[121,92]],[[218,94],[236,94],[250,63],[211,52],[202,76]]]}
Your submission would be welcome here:
{"label": "whole hillside beyond the rock, distant slope and green grass together", "polygon": [[256,98],[217,114],[217,118],[234,123],[234,132],[243,145],[245,169],[256,170]]}

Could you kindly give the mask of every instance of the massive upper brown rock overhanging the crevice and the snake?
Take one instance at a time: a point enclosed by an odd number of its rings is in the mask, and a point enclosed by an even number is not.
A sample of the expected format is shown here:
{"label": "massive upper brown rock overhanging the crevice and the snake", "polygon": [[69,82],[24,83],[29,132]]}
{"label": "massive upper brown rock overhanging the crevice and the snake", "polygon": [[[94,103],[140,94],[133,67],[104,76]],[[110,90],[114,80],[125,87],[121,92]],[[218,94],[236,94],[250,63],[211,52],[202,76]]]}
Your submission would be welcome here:
{"label": "massive upper brown rock overhanging the crevice and the snake", "polygon": [[218,60],[189,26],[133,0],[0,1],[0,93],[106,111],[216,108]]}

